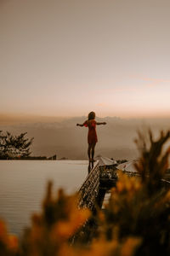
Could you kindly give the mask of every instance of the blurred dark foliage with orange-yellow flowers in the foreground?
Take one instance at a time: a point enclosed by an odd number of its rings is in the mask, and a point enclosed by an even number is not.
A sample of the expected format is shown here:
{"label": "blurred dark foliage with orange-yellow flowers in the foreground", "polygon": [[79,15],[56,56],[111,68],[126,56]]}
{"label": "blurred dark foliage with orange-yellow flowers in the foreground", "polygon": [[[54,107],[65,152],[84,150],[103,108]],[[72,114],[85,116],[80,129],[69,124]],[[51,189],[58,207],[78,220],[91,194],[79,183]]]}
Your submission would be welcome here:
{"label": "blurred dark foliage with orange-yellow flowers in the foreground", "polygon": [[34,214],[31,227],[18,241],[8,235],[0,222],[0,255],[42,256],[132,256],[170,255],[170,190],[162,186],[170,149],[164,147],[170,133],[161,131],[157,140],[151,131],[148,139],[139,132],[136,140],[140,159],[137,177],[119,172],[116,188],[105,211],[97,210],[97,232],[92,241],[74,241],[76,234],[92,218],[88,209],[77,208],[77,195],[60,189],[52,194],[48,183],[42,213]]}

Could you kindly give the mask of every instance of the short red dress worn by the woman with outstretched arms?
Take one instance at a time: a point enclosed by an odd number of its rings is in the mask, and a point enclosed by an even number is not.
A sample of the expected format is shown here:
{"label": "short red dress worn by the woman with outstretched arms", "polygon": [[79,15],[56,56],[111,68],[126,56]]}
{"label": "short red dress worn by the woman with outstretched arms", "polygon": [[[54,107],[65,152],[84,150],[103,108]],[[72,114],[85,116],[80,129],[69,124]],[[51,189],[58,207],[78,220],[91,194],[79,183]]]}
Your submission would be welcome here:
{"label": "short red dress worn by the woman with outstretched arms", "polygon": [[96,121],[94,119],[87,120],[83,125],[88,127],[88,144],[97,143],[98,137],[96,133]]}

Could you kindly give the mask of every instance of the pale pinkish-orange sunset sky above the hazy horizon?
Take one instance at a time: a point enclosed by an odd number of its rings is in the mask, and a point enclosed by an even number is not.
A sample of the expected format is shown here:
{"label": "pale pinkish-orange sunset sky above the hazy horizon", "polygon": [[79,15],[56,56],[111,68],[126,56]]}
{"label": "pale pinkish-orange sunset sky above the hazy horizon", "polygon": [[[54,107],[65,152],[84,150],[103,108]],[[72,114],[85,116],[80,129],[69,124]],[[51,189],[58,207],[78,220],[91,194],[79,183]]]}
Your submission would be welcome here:
{"label": "pale pinkish-orange sunset sky above the hazy horizon", "polygon": [[0,113],[170,116],[169,0],[0,0]]}

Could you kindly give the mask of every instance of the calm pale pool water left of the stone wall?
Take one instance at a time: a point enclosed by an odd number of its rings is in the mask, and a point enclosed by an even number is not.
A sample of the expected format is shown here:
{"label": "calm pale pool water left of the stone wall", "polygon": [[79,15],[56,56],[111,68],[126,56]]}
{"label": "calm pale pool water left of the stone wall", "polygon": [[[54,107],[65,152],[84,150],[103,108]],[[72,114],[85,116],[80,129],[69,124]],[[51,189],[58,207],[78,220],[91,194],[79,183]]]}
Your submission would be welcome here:
{"label": "calm pale pool water left of the stone wall", "polygon": [[1,160],[0,218],[10,232],[20,235],[31,223],[31,213],[41,210],[48,180],[53,180],[54,191],[62,187],[72,193],[87,174],[86,160]]}

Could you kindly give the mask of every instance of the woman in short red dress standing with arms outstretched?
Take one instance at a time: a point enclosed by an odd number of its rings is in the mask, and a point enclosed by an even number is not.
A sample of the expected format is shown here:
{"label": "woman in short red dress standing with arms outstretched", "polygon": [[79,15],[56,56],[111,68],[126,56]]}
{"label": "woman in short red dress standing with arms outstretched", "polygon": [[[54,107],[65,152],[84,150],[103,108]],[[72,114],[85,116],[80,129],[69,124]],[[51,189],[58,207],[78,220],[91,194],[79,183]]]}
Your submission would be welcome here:
{"label": "woman in short red dress standing with arms outstretched", "polygon": [[[88,159],[89,161],[94,161],[94,148],[98,142],[98,137],[96,133],[96,125],[106,125],[105,122],[99,123],[95,120],[95,113],[92,111],[88,113],[88,120],[86,120],[82,125],[77,124],[77,126],[88,127]],[[92,155],[92,157],[91,157]]]}

